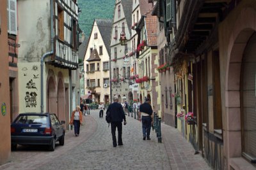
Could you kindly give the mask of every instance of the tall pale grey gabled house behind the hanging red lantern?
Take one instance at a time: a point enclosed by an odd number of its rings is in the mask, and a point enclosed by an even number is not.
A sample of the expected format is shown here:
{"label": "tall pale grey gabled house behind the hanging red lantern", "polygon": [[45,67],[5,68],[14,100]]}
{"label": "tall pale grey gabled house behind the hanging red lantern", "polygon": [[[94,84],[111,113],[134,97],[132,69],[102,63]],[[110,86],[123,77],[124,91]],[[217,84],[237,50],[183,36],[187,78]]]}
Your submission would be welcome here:
{"label": "tall pale grey gabled house behind the hanging red lantern", "polygon": [[[119,102],[132,103],[131,59],[127,57],[131,50],[131,12],[132,3],[129,0],[116,0],[114,20],[110,41],[110,70],[111,70],[111,97],[118,96]],[[120,33],[125,32],[127,45],[120,45]],[[111,98],[112,99],[112,98]]]}

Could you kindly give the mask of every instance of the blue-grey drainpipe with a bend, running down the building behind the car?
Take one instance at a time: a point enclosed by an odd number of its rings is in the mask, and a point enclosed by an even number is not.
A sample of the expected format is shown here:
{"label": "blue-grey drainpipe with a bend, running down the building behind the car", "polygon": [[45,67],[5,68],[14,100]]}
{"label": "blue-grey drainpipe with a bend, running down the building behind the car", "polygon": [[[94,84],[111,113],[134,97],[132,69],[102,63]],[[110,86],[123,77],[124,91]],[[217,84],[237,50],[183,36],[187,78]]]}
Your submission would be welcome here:
{"label": "blue-grey drainpipe with a bend, running down the building behind the car", "polygon": [[53,54],[53,0],[51,0],[51,52],[46,52],[41,58],[41,113],[44,113],[44,59]]}

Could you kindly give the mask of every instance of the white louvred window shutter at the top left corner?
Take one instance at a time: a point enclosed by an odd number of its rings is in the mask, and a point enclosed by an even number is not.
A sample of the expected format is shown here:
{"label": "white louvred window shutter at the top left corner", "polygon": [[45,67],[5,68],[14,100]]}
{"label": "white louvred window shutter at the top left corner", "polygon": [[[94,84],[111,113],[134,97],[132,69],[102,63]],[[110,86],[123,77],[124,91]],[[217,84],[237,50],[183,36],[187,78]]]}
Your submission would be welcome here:
{"label": "white louvred window shutter at the top left corner", "polygon": [[9,10],[9,33],[17,35],[17,0],[10,0]]}

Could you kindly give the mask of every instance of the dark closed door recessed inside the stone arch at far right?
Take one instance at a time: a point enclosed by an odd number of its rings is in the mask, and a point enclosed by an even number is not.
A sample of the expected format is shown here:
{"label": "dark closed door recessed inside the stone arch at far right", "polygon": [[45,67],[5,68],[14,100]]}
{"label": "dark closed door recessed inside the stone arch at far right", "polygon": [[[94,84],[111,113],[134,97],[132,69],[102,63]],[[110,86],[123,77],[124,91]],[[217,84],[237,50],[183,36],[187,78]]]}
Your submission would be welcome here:
{"label": "dark closed door recessed inside the stone arch at far right", "polygon": [[241,123],[242,151],[250,157],[256,157],[256,32],[244,48],[241,64]]}

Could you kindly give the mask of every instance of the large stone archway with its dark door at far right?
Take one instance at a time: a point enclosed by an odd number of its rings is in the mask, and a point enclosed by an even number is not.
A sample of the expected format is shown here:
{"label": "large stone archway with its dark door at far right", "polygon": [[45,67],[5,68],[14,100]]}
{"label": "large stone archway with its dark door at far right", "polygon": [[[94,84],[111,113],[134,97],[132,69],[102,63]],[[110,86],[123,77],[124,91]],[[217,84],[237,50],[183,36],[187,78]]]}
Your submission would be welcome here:
{"label": "large stone archway with its dark door at far right", "polygon": [[[242,24],[243,25],[243,24]],[[237,33],[237,32],[236,32]],[[236,34],[234,33],[234,34]],[[239,155],[256,156],[255,136],[256,113],[255,104],[255,40],[253,29],[244,29],[236,34],[234,45],[230,52],[226,79],[226,108],[227,108],[227,141],[236,143]],[[254,60],[254,61],[253,61]],[[254,66],[253,66],[254,62]],[[237,131],[237,129],[239,129]],[[225,141],[229,158],[237,157],[230,144]],[[242,154],[245,153],[245,154]]]}

